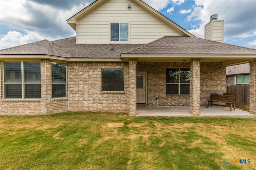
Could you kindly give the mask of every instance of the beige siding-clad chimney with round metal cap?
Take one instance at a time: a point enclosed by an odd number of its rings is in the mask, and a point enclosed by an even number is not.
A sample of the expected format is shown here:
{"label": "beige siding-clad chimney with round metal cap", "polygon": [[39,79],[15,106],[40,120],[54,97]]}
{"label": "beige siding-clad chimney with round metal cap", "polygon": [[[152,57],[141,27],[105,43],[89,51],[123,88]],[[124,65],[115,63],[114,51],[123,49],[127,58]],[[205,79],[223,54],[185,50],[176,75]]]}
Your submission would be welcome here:
{"label": "beige siding-clad chimney with round metal cap", "polygon": [[217,19],[217,14],[210,16],[210,22],[204,26],[204,39],[224,42],[224,21]]}

